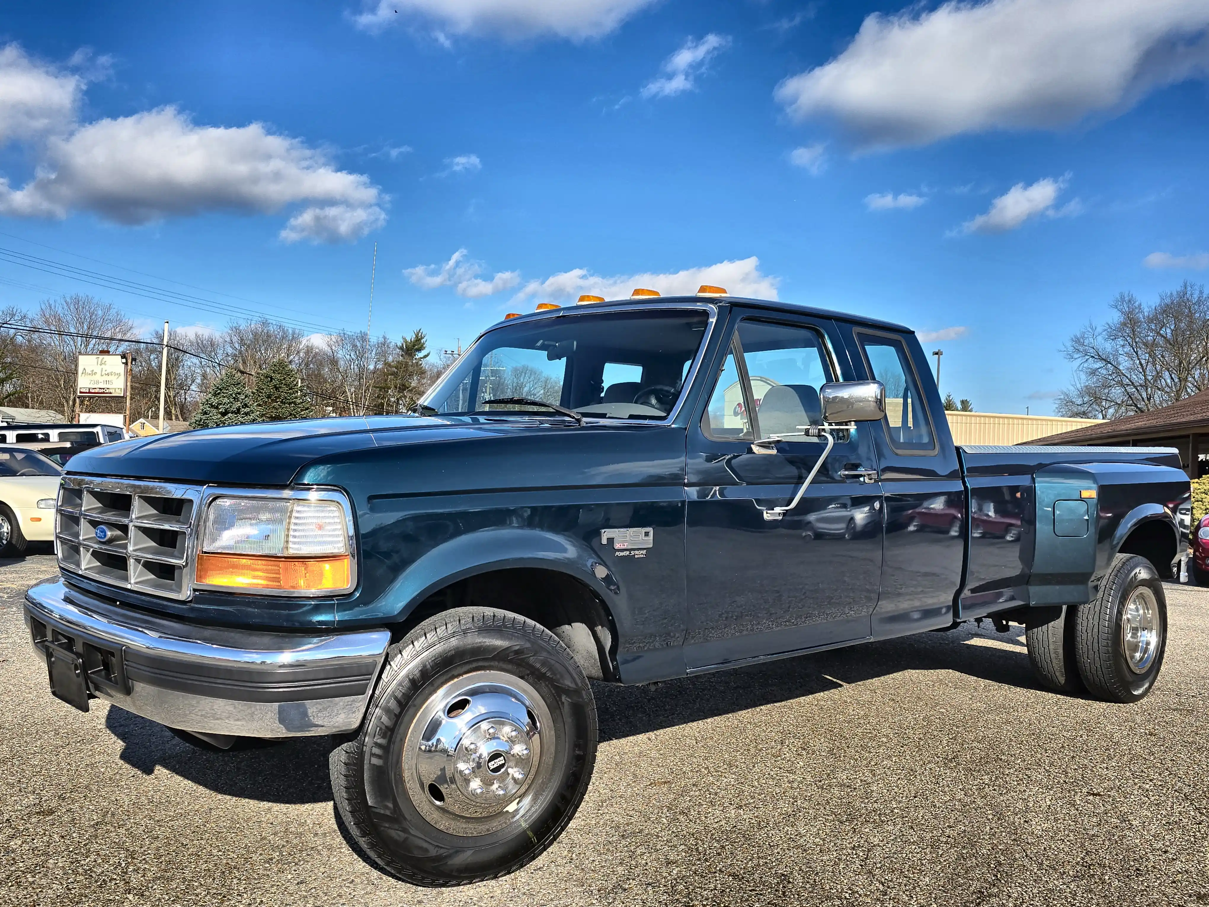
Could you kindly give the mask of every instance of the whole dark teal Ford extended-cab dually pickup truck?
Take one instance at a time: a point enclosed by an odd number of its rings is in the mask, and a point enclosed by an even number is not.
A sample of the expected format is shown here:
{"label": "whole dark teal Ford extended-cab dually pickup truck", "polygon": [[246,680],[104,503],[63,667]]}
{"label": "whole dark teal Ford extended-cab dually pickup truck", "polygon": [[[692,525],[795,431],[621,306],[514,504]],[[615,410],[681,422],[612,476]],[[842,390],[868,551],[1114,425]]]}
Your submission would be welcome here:
{"label": "whole dark teal Ford extended-cab dually pickup truck", "polygon": [[[73,457],[62,578],[25,600],[51,692],[218,747],[336,735],[345,827],[426,885],[516,870],[567,827],[596,757],[590,680],[990,617],[1025,625],[1047,687],[1150,692],[1176,451],[959,455],[908,328],[701,291],[509,317],[418,416]],[[770,382],[759,408],[751,375]],[[970,544],[974,492],[1019,499],[1029,531]],[[878,528],[806,542],[838,499]],[[933,513],[939,532],[903,531]]]}

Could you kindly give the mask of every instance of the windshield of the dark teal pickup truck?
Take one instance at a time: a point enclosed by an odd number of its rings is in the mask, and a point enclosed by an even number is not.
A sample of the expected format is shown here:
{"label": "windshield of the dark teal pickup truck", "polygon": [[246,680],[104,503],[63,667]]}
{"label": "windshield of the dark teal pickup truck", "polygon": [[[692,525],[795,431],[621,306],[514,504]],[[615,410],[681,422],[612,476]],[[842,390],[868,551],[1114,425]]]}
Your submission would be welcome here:
{"label": "windshield of the dark teal pickup truck", "polygon": [[592,418],[664,420],[705,337],[704,310],[571,313],[488,331],[421,401],[447,415],[525,411],[525,397]]}

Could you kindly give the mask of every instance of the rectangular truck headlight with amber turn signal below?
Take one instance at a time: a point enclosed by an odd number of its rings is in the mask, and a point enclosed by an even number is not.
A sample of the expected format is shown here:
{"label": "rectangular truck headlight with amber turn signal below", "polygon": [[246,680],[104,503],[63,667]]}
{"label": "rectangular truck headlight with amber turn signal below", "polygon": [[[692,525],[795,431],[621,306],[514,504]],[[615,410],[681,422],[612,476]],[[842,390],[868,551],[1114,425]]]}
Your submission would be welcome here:
{"label": "rectangular truck headlight with amber turn signal below", "polygon": [[352,588],[346,508],[319,497],[219,496],[202,519],[196,584],[278,593]]}

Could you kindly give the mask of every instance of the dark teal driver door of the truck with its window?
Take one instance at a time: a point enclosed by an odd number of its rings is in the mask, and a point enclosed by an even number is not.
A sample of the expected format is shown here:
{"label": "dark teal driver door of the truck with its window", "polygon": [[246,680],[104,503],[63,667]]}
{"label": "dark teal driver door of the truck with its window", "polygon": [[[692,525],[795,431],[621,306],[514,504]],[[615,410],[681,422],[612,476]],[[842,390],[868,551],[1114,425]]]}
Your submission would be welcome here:
{"label": "dark teal driver door of the truck with its window", "polygon": [[[688,428],[689,670],[797,652],[870,632],[881,574],[881,487],[872,428],[832,449],[800,503],[781,519],[822,456],[821,438],[773,454],[752,441],[821,424],[818,388],[851,375],[829,320],[733,316],[712,387]],[[872,481],[870,481],[872,479]]]}

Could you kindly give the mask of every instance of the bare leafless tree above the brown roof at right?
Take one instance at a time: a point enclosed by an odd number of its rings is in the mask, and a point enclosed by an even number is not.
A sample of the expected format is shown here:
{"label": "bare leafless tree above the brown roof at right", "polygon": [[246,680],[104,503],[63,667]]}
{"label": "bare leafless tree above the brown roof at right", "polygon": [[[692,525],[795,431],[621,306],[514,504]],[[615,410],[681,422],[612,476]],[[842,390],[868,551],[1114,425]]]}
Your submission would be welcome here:
{"label": "bare leafless tree above the brown roof at right", "polygon": [[1112,300],[1115,317],[1088,323],[1063,347],[1075,365],[1058,414],[1117,418],[1209,389],[1209,296],[1187,281],[1147,306],[1132,293]]}

